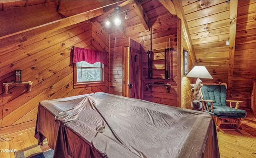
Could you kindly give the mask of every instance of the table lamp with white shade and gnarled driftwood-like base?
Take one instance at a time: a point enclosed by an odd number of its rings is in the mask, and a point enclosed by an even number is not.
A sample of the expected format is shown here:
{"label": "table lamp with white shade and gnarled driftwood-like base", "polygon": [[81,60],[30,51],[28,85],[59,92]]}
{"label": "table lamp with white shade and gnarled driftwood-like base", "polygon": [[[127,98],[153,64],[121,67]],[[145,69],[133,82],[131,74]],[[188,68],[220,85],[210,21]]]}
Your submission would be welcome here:
{"label": "table lamp with white shade and gnarled driftwood-like base", "polygon": [[186,75],[186,77],[197,78],[195,84],[190,84],[190,86],[192,86],[191,91],[193,93],[194,99],[193,102],[191,103],[191,107],[193,110],[202,111],[202,99],[199,90],[203,85],[201,84],[202,81],[200,80],[200,78],[213,78],[205,66],[194,66],[194,68],[192,68],[192,70]]}

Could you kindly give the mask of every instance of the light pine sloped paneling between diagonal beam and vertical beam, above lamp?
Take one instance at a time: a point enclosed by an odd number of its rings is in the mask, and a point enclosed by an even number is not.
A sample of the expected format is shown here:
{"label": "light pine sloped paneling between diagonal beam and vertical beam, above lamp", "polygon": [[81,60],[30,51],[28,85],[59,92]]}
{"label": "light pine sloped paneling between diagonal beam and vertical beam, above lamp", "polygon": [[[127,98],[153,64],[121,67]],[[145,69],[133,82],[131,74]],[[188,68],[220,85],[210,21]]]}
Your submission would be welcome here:
{"label": "light pine sloped paneling between diagonal beam and vertical beam, above lamp", "polygon": [[228,84],[229,46],[226,40],[230,32],[230,1],[193,1],[182,3],[197,65],[206,66],[213,79],[203,82]]}

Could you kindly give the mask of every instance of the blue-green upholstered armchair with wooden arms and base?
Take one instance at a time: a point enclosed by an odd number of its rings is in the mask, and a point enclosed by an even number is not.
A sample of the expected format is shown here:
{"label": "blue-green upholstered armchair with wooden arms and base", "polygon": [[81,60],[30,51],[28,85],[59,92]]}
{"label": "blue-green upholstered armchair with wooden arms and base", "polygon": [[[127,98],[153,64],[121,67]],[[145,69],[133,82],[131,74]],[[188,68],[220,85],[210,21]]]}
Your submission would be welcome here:
{"label": "blue-green upholstered armchair with wooden arms and base", "polygon": [[[200,89],[204,112],[208,112],[216,118],[216,128],[220,132],[223,130],[236,130],[238,132],[242,124],[241,118],[246,117],[246,111],[238,109],[242,101],[226,100],[227,84],[204,83]],[[230,102],[230,106],[226,106]],[[235,108],[232,102],[236,102]],[[220,128],[221,124],[226,124],[229,128]],[[240,132],[241,133],[241,132]]]}

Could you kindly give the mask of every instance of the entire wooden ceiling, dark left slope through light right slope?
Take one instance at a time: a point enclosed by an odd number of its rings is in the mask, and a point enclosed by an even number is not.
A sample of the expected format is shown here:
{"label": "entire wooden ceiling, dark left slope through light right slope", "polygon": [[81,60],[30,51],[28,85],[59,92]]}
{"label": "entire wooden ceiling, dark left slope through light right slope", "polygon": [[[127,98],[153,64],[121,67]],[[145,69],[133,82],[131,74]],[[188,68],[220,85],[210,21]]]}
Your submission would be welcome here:
{"label": "entire wooden ceiling, dark left slope through light right slope", "polygon": [[[129,20],[118,30],[104,26],[115,6],[121,11],[129,8]],[[203,82],[226,82],[229,96],[250,99],[256,80],[255,0],[1,0],[0,9],[0,40],[30,30],[38,34],[58,30],[85,20],[100,22],[109,34],[125,36],[127,27],[142,22],[146,28],[148,20],[168,10],[184,22],[193,64],[206,66],[214,78]],[[154,9],[154,15],[147,14]],[[10,14],[14,10],[16,14]]]}

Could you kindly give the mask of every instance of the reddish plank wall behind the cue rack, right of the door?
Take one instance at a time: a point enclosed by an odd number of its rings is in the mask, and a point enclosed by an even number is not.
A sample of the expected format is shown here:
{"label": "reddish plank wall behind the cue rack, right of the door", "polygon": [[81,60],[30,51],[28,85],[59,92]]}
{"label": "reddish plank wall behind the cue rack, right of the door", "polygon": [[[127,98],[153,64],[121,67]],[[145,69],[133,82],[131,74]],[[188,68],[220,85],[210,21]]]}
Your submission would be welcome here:
{"label": "reddish plank wall behind the cue rack, right of the door", "polygon": [[[177,22],[178,18],[171,17],[169,13],[163,14],[152,19],[152,51],[153,59],[164,59],[164,48],[166,48],[166,38],[170,47],[174,50],[170,57],[170,79],[164,79],[164,60],[152,62],[152,79],[148,78],[148,55],[143,54],[143,99],[151,102],[157,102],[166,105],[179,106],[178,97],[178,58],[177,58]],[[150,43],[150,42],[149,42]],[[172,43],[172,44],[171,44]],[[168,44],[168,42],[167,42]],[[172,46],[171,46],[172,45]],[[169,47],[169,44],[168,46]],[[147,38],[144,40],[144,50],[148,50]],[[159,52],[158,52],[159,51]],[[171,84],[170,92],[167,92],[164,86],[156,83]],[[151,90],[147,84],[152,85]]]}

